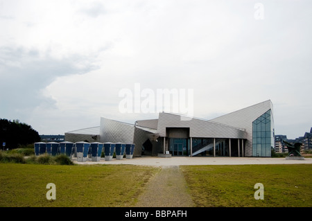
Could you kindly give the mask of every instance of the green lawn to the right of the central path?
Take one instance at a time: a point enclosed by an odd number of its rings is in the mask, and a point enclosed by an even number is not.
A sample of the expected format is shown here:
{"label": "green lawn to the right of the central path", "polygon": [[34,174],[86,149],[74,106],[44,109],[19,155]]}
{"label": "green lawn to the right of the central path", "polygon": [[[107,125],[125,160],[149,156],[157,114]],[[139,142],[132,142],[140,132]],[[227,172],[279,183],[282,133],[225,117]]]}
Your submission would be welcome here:
{"label": "green lawn to the right of the central path", "polygon": [[[311,207],[312,165],[180,166],[196,206]],[[264,187],[264,200],[255,200]]]}

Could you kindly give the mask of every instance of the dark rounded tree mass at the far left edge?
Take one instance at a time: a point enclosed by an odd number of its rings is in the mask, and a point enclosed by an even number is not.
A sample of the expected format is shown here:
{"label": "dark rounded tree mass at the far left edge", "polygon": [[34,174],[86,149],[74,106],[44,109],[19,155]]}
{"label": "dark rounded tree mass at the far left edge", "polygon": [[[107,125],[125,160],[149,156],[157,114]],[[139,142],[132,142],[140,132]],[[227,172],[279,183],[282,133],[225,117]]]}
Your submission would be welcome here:
{"label": "dark rounded tree mass at the far left edge", "polygon": [[6,147],[13,149],[37,141],[40,141],[40,136],[30,125],[0,118],[0,144],[6,142]]}

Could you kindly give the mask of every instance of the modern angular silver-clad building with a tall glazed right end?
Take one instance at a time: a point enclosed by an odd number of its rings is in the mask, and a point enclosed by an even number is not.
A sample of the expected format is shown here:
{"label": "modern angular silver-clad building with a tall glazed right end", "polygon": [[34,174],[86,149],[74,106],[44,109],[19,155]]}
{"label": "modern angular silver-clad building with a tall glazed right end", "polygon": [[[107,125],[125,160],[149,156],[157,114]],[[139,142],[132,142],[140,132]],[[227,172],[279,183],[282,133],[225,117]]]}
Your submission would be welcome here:
{"label": "modern angular silver-clad building with a tall glazed right end", "polygon": [[271,157],[275,146],[270,100],[211,120],[165,112],[133,125],[101,118],[99,130],[100,142],[135,143],[134,157]]}

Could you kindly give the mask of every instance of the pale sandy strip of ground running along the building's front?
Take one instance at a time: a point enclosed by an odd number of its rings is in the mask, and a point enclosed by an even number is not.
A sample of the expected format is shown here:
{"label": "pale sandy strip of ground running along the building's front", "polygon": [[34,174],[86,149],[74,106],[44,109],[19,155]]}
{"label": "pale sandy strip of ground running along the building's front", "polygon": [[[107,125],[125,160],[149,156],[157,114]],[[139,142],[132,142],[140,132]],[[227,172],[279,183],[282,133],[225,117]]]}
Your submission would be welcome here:
{"label": "pale sandy strip of ground running along the building's front", "polygon": [[85,162],[78,162],[76,158],[73,163],[78,164],[132,164],[141,166],[180,166],[180,165],[239,165],[239,164],[294,164],[312,163],[312,158],[304,160],[286,160],[285,158],[258,158],[258,157],[134,157],[133,159],[115,158],[112,161],[91,161],[87,158]]}

